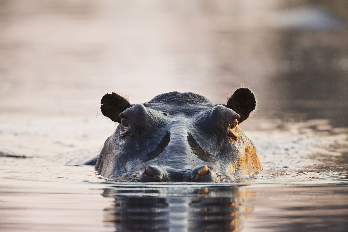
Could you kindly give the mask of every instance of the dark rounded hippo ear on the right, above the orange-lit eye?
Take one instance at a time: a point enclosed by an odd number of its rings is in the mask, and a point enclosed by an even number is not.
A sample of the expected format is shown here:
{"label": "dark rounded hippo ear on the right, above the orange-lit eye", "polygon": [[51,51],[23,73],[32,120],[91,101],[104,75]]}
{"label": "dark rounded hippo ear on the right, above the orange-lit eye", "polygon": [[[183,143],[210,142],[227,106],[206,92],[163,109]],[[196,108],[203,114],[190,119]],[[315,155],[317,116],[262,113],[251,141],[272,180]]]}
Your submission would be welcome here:
{"label": "dark rounded hippo ear on the right, above the orange-lit eye", "polygon": [[239,114],[239,123],[247,119],[251,111],[255,110],[256,101],[253,92],[247,88],[239,88],[228,99],[226,107]]}

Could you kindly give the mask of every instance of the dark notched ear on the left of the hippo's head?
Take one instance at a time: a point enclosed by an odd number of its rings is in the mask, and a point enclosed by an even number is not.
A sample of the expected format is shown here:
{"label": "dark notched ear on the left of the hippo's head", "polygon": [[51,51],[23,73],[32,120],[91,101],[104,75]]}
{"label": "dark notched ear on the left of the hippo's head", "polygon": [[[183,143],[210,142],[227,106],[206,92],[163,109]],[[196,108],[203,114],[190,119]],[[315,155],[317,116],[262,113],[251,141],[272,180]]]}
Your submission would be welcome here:
{"label": "dark notched ear on the left of the hippo's head", "polygon": [[103,115],[118,123],[121,123],[120,113],[130,107],[127,99],[116,93],[105,94],[100,104]]}

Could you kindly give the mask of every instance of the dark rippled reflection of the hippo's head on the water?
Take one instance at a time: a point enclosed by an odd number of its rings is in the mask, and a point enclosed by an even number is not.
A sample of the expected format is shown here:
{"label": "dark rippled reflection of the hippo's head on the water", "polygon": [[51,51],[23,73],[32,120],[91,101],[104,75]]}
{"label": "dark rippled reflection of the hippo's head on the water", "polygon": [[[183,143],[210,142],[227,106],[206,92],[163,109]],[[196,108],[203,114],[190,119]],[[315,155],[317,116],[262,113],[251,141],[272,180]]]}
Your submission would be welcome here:
{"label": "dark rippled reflection of the hippo's head on the water", "polygon": [[104,222],[115,231],[241,231],[243,202],[255,197],[248,188],[163,187],[105,189],[114,205],[104,209]]}

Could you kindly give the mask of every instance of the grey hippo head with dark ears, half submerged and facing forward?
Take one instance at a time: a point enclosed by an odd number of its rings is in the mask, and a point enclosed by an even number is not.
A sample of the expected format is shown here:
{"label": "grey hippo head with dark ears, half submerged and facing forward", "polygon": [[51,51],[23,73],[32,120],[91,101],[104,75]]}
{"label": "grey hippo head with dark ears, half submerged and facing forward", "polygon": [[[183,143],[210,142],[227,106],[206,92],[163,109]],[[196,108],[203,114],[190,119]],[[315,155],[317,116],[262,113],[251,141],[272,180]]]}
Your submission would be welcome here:
{"label": "grey hippo head with dark ears, half submerged and facing forward", "polygon": [[255,105],[248,88],[236,89],[227,104],[191,92],[133,105],[105,94],[101,112],[119,125],[106,139],[95,171],[128,182],[232,182],[250,176],[262,166],[239,124]]}

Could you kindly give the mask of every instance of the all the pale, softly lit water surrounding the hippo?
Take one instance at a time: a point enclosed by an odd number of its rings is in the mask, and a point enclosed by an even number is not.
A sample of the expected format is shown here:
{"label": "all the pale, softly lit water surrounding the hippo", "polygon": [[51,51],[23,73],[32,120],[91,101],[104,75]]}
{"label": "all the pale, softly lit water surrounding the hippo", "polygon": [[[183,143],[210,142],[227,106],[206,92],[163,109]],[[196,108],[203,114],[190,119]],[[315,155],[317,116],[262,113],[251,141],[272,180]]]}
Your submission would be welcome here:
{"label": "all the pale, softly lit water surrounding the hippo", "polygon": [[[348,231],[344,1],[0,1],[0,231]],[[82,162],[130,103],[226,103],[264,170],[234,183],[115,183]]]}

